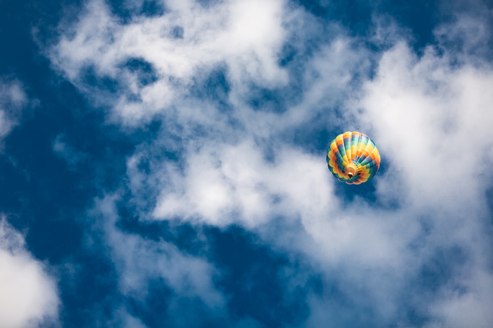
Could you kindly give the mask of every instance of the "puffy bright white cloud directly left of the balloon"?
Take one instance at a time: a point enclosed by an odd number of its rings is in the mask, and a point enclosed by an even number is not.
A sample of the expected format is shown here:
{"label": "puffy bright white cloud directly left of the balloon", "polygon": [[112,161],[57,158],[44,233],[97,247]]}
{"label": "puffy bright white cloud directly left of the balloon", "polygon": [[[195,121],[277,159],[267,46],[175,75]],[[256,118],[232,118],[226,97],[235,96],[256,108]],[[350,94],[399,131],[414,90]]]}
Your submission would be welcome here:
{"label": "puffy bright white cloud directly left of the balloon", "polygon": [[162,190],[154,216],[218,226],[240,221],[248,227],[273,215],[309,219],[332,204],[328,175],[317,162],[299,149],[286,148],[269,163],[251,141],[204,145],[189,152],[185,172],[171,166],[163,173],[169,187]]}

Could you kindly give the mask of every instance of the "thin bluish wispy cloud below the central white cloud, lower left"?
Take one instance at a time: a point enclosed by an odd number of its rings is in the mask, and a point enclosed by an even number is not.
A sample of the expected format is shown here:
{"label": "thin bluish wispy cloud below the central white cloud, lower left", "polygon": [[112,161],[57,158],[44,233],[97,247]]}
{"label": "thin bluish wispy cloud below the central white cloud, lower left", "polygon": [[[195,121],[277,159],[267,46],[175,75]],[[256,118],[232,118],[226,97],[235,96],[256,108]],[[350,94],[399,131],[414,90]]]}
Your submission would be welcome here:
{"label": "thin bluish wispy cloud below the central white cloud, lower left", "polygon": [[160,278],[179,297],[198,297],[211,308],[221,307],[222,295],[212,283],[215,269],[202,258],[182,253],[170,242],[144,239],[118,229],[115,197],[99,201],[94,211],[103,215],[98,227],[104,229],[104,241],[119,274],[122,294],[144,299],[149,281]]}

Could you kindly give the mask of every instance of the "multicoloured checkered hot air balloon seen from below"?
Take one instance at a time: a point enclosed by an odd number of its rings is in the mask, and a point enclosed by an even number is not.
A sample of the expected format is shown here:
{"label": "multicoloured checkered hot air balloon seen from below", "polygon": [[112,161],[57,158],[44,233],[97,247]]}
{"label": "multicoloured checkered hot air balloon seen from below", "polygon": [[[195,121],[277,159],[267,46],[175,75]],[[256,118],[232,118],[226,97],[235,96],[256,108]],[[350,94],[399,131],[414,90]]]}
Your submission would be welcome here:
{"label": "multicoloured checkered hot air balloon seen from below", "polygon": [[373,140],[359,132],[344,132],[330,143],[327,165],[341,182],[360,184],[377,173],[380,154]]}

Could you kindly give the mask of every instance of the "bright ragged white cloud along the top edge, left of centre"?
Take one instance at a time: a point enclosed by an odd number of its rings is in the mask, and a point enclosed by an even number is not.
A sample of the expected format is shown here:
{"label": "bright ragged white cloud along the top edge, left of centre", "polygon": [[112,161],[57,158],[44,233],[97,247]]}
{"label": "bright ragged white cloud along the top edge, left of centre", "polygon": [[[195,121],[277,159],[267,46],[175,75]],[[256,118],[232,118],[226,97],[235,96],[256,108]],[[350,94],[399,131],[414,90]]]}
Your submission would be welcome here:
{"label": "bright ragged white cloud along the top edge, left of centre", "polygon": [[[169,111],[176,100],[188,96],[194,75],[223,63],[233,87],[287,82],[277,64],[285,38],[283,1],[231,0],[203,6],[170,0],[164,5],[162,16],[137,16],[124,25],[102,1],[90,1],[80,21],[52,50],[51,60],[82,89],[90,87],[79,74],[89,67],[98,77],[118,78],[123,88],[118,99],[98,92],[92,99],[114,106],[116,117],[127,124]],[[182,31],[179,37],[177,28]],[[138,73],[125,67],[130,59],[150,63],[159,80],[142,86]]]}

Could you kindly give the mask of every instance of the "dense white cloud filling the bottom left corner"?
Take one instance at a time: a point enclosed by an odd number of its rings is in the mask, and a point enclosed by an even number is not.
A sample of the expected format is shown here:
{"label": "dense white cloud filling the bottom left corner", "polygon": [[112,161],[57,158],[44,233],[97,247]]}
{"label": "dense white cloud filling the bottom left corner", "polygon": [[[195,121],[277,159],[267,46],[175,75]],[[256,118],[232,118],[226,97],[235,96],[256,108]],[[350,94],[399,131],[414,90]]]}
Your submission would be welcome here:
{"label": "dense white cloud filling the bottom left corner", "polygon": [[45,266],[26,250],[24,238],[0,220],[0,322],[3,327],[56,324],[59,298]]}

